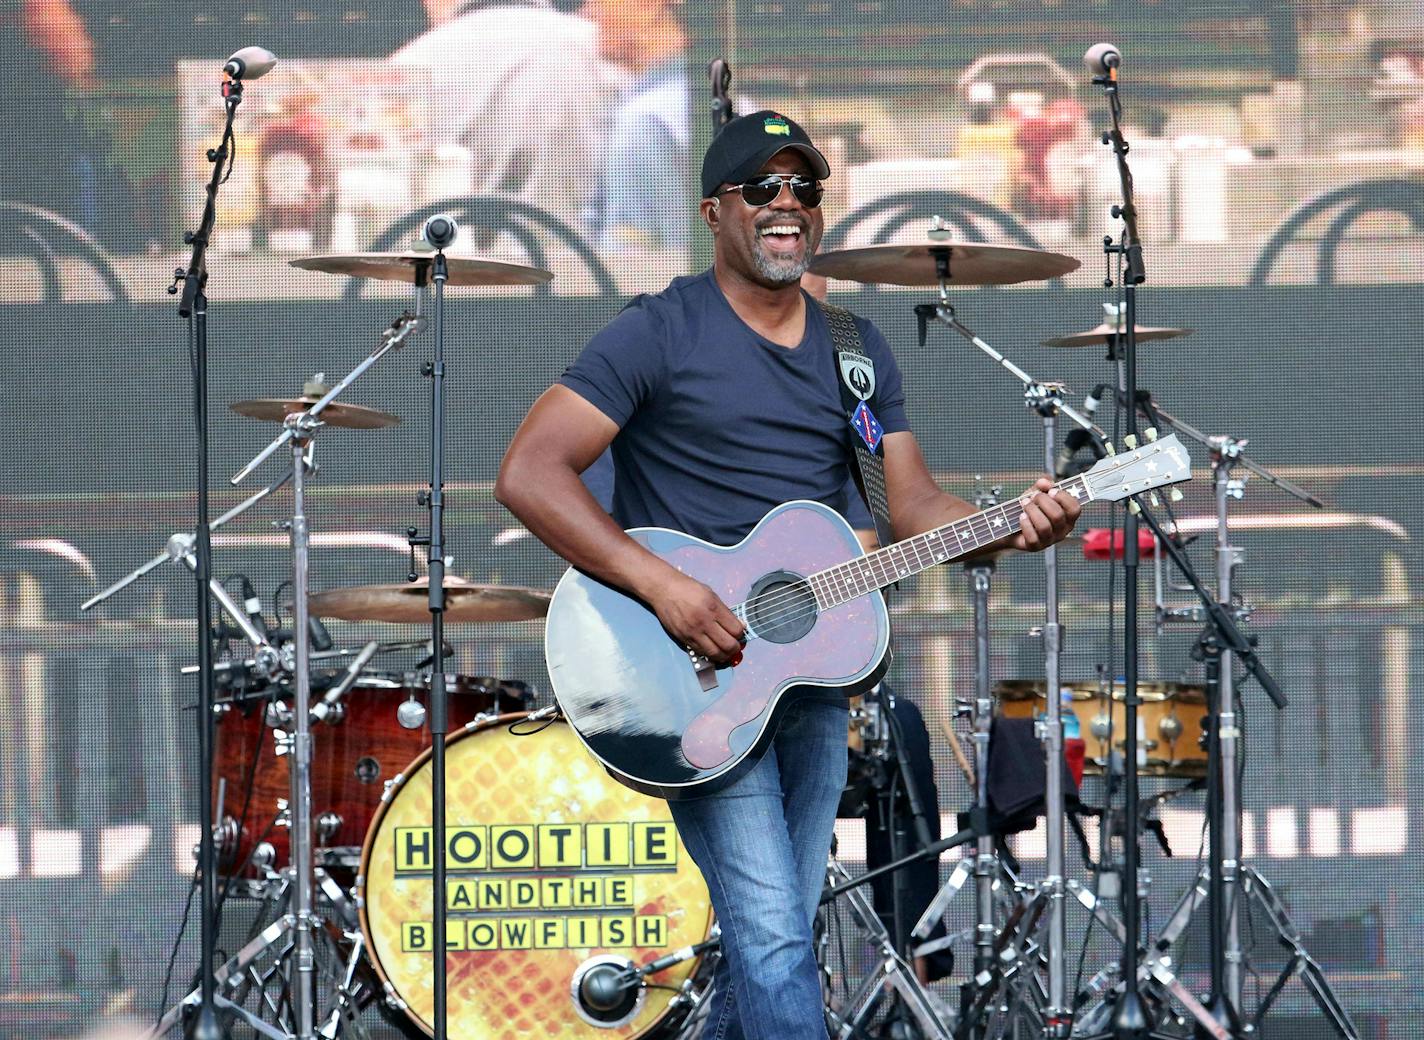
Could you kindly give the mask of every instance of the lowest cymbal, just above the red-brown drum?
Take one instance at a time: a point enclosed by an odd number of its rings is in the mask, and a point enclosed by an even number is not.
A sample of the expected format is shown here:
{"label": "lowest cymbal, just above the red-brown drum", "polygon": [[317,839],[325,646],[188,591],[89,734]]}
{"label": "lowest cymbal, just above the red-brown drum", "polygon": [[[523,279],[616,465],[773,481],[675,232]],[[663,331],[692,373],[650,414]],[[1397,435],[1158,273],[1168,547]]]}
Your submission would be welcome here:
{"label": "lowest cymbal, just above the red-brown drum", "polygon": [[[530,621],[548,613],[550,593],[514,586],[477,586],[446,578],[446,621]],[[430,578],[399,586],[349,586],[312,597],[312,613],[340,621],[430,620]]]}

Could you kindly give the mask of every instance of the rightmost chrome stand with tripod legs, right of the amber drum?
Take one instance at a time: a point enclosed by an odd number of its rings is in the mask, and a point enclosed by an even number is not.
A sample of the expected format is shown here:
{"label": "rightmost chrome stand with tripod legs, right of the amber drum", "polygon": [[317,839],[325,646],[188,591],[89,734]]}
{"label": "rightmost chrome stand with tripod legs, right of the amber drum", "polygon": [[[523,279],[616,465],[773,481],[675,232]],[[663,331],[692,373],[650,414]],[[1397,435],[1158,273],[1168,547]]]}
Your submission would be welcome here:
{"label": "rightmost chrome stand with tripod legs, right of the amber drum", "polygon": [[[1230,541],[1229,506],[1232,499],[1245,496],[1246,477],[1233,477],[1232,470],[1246,466],[1259,473],[1276,487],[1321,509],[1324,503],[1289,480],[1277,477],[1265,466],[1245,454],[1246,440],[1230,436],[1208,436],[1200,430],[1165,412],[1152,402],[1146,392],[1139,393],[1139,405],[1155,422],[1166,423],[1186,436],[1206,444],[1212,453],[1212,489],[1216,504],[1216,605],[1220,614],[1233,620],[1246,620],[1249,611],[1236,604],[1232,580],[1235,568],[1242,561],[1242,551]],[[1176,617],[1189,613],[1178,611]],[[1161,614],[1159,614],[1161,617]],[[1168,614],[1165,620],[1176,620]],[[1242,862],[1240,812],[1242,795],[1239,786],[1239,745],[1242,729],[1236,724],[1236,677],[1229,644],[1223,643],[1218,628],[1209,621],[1202,631],[1193,657],[1203,661],[1209,705],[1208,725],[1208,833],[1209,855],[1198,883],[1188,889],[1176,910],[1156,940],[1156,947],[1168,950],[1186,929],[1192,913],[1208,900],[1210,933],[1210,1007],[1218,1021],[1242,1034],[1259,1030],[1262,1019],[1274,1003],[1276,996],[1290,974],[1299,970],[1320,1010],[1331,1021],[1336,1031],[1346,1040],[1357,1040],[1358,1033],[1339,999],[1330,989],[1320,966],[1300,945],[1300,933],[1276,898],[1270,885]],[[1257,675],[1259,678],[1259,675]],[[1269,688],[1267,688],[1269,692]],[[1279,705],[1277,705],[1279,707]],[[1249,895],[1260,903],[1276,932],[1282,946],[1293,952],[1286,970],[1277,979],[1267,997],[1262,1002],[1250,1024],[1245,1021],[1242,1004],[1245,955],[1240,940],[1240,900]]]}

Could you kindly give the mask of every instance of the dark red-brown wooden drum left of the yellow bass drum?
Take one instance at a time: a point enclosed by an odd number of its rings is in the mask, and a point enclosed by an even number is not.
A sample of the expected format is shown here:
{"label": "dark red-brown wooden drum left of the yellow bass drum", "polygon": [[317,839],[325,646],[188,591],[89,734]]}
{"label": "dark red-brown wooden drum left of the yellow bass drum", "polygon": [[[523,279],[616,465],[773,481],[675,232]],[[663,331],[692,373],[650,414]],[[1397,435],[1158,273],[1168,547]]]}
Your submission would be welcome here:
{"label": "dark red-brown wooden drum left of the yellow bass drum", "polygon": [[[386,782],[430,747],[429,721],[417,729],[396,721],[396,708],[407,700],[429,709],[429,677],[362,675],[342,697],[336,715],[312,724],[312,828],[319,863],[355,869]],[[451,728],[477,715],[527,709],[534,700],[523,682],[486,675],[446,675],[446,688]],[[290,705],[288,692],[278,695]],[[232,701],[218,718],[214,764],[222,805],[216,804],[219,791],[214,791],[214,819],[225,875],[259,878],[290,862],[288,826],[279,808],[292,798],[282,744],[286,732],[268,725],[271,702],[268,695]],[[279,748],[282,755],[276,754]],[[244,802],[245,823],[239,822]],[[259,843],[262,848],[249,862]]]}

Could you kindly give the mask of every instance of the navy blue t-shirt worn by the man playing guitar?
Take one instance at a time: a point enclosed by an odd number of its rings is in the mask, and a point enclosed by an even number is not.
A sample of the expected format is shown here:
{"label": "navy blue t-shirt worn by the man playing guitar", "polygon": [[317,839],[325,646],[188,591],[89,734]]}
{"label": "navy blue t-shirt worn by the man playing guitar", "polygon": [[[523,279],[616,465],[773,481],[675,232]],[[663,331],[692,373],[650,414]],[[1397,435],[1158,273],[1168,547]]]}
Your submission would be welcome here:
{"label": "navy blue t-shirt worn by the man playing guitar", "polygon": [[[806,303],[802,342],[780,346],[705,271],[637,296],[590,340],[560,383],[619,427],[614,520],[726,546],[792,499],[847,511],[852,433],[826,318]],[[856,322],[876,368],[876,419],[886,433],[909,430],[894,356],[870,322]]]}

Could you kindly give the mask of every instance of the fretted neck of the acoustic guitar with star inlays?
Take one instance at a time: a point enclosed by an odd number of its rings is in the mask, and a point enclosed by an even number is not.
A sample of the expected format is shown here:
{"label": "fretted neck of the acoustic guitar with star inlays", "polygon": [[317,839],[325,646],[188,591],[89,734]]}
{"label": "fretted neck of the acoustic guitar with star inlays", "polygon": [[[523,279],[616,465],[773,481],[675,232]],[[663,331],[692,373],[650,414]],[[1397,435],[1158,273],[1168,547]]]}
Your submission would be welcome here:
{"label": "fretted neck of the acoustic guitar with star inlays", "polygon": [[[1055,486],[1077,497],[1078,501],[1085,503],[1094,497],[1092,489],[1082,474],[1062,480]],[[1017,534],[1022,521],[1024,507],[1018,499],[1012,499],[924,534],[916,534],[893,546],[816,571],[806,580],[816,593],[817,605],[826,610]]]}

